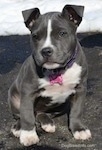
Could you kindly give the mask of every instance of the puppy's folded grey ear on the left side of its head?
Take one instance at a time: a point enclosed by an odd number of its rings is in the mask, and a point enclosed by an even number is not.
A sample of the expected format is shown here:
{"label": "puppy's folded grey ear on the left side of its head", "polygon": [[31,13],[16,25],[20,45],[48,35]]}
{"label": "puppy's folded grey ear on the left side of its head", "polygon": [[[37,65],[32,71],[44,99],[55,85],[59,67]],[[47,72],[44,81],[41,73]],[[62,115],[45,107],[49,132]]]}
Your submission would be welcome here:
{"label": "puppy's folded grey ear on the left side of its head", "polygon": [[40,16],[40,10],[38,8],[28,9],[22,11],[24,23],[29,30],[33,26],[35,20]]}

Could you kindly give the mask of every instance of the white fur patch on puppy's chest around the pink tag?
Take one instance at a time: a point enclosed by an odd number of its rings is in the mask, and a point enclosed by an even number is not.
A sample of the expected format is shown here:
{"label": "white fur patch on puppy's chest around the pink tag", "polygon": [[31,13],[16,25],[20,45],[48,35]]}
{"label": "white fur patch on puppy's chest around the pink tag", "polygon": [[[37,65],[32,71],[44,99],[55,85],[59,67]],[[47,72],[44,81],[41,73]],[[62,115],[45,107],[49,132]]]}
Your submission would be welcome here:
{"label": "white fur patch on puppy's chest around the pink tag", "polygon": [[51,85],[48,78],[39,79],[40,88],[45,90],[40,93],[42,97],[51,97],[52,104],[64,103],[66,98],[75,93],[75,87],[79,84],[81,79],[82,67],[74,63],[71,68],[67,69],[62,74],[63,84],[55,83]]}

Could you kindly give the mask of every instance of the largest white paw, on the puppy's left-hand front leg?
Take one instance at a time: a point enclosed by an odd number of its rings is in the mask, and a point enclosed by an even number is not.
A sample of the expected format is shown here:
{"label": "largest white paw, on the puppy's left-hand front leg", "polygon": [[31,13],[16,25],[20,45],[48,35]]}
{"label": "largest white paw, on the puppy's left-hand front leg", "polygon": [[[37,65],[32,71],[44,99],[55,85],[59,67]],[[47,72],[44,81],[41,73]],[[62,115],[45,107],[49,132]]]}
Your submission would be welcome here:
{"label": "largest white paw, on the puppy's left-hand front leg", "polygon": [[21,130],[20,143],[24,146],[30,146],[39,142],[38,135],[35,130]]}

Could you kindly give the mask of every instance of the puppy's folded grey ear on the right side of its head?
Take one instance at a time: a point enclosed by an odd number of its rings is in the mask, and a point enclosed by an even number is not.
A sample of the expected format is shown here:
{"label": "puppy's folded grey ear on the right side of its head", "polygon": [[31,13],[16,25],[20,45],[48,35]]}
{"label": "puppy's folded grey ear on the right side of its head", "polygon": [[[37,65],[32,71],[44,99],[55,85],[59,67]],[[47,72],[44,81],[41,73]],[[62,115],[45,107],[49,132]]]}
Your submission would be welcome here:
{"label": "puppy's folded grey ear on the right side of its head", "polygon": [[62,16],[72,21],[76,26],[82,21],[84,6],[65,5],[62,10]]}

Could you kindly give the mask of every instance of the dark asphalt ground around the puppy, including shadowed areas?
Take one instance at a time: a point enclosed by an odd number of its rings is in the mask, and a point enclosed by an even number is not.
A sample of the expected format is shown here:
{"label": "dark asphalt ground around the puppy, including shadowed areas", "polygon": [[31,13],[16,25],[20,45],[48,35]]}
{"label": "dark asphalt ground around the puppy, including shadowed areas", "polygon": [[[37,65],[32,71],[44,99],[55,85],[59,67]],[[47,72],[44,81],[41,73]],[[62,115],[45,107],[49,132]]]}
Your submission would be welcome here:
{"label": "dark asphalt ground around the puppy, including shadowed areas", "polygon": [[0,150],[102,150],[102,34],[78,35],[86,54],[89,76],[83,122],[92,132],[92,139],[77,141],[68,131],[66,115],[55,119],[53,134],[38,129],[40,143],[23,147],[10,133],[14,122],[8,108],[7,91],[24,60],[31,54],[29,36],[0,37]]}

